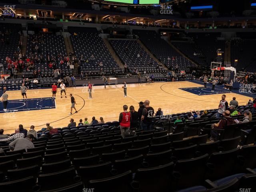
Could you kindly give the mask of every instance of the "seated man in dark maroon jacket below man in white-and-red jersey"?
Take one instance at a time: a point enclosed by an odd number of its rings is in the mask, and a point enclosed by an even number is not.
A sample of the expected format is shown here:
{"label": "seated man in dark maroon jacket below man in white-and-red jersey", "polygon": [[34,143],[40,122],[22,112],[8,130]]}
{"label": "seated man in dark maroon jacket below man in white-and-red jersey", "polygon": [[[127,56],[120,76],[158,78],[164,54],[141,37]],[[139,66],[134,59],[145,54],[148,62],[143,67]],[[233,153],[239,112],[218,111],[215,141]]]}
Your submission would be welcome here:
{"label": "seated man in dark maroon jacket below man in white-and-red jersey", "polygon": [[[230,111],[225,110],[224,119],[220,120],[217,124],[212,124],[212,128],[215,129],[224,129],[227,125],[235,124],[235,120],[230,117]],[[218,139],[218,132],[215,130],[211,130],[211,141],[216,141]]]}

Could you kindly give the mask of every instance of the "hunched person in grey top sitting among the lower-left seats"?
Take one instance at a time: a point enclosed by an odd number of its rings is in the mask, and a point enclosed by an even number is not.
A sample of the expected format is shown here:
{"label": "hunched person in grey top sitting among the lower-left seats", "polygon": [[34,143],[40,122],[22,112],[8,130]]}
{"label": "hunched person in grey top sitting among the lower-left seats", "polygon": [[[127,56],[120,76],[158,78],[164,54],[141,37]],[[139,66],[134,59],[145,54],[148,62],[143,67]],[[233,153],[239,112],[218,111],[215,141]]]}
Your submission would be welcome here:
{"label": "hunched person in grey top sitting among the lower-left seats", "polygon": [[34,136],[29,134],[26,138],[18,138],[9,144],[9,148],[12,151],[25,149],[27,151],[28,148],[34,148],[34,144],[32,142]]}

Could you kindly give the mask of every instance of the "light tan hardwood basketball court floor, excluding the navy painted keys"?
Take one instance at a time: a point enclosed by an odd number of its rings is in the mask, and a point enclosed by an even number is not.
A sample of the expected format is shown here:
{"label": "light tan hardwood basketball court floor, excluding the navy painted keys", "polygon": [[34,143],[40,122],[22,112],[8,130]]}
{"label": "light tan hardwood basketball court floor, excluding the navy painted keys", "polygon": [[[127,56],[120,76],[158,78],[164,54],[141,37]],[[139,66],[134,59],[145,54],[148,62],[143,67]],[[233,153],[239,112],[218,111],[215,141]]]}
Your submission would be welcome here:
{"label": "light tan hardwood basketball court floor, excluding the navy painted keys", "polygon": [[[164,114],[173,114],[179,112],[187,112],[189,110],[204,110],[218,108],[222,94],[198,96],[180,90],[179,88],[198,87],[193,82],[160,82],[152,84],[128,84],[127,94],[125,98],[123,94],[122,84],[108,87],[94,86],[92,97],[88,99],[88,89],[86,87],[67,88],[67,98],[60,98],[60,89],[58,88],[56,97],[56,108],[45,110],[32,110],[24,112],[1,113],[2,126],[6,134],[14,132],[19,124],[23,124],[24,128],[29,129],[34,125],[36,130],[46,127],[45,124],[50,122],[54,128],[67,126],[70,118],[74,118],[78,124],[80,118],[84,121],[87,117],[90,122],[92,116],[97,120],[100,117],[104,121],[118,120],[119,113],[122,112],[124,104],[133,105],[138,110],[138,102],[145,99],[150,100],[150,105],[156,111],[162,108]],[[8,91],[9,100],[22,98],[20,91]],[[78,113],[68,115],[70,112],[70,97],[72,93],[76,99],[76,109]],[[44,98],[52,95],[51,89],[28,90],[28,98]],[[226,100],[230,102],[232,97],[236,97],[239,104],[246,104],[250,99],[240,94],[227,93]],[[74,112],[74,110],[73,110]]]}

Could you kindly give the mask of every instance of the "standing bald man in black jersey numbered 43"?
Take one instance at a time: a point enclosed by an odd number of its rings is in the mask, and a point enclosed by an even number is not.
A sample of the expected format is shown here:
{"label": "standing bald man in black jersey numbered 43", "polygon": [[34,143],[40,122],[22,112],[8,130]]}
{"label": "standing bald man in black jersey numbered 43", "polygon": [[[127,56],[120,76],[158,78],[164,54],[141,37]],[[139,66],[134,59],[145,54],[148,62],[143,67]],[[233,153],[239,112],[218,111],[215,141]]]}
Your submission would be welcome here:
{"label": "standing bald man in black jersey numbered 43", "polygon": [[147,131],[152,129],[152,118],[154,116],[154,109],[149,106],[149,100],[144,101],[145,108],[142,111],[140,126],[142,130]]}

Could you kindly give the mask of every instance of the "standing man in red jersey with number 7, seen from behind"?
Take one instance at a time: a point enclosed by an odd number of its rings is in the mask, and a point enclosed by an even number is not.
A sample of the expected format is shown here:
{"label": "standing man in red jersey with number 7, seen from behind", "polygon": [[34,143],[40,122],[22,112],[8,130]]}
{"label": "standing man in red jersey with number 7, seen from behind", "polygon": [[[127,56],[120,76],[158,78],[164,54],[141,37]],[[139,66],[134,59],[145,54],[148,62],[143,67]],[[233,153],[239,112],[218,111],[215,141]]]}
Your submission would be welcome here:
{"label": "standing man in red jersey with number 7, seen from behind", "polygon": [[131,123],[131,113],[128,112],[128,106],[123,106],[124,112],[120,113],[119,115],[119,122],[120,122],[120,131],[121,135],[124,138],[125,136],[129,135],[130,130],[130,123]]}

